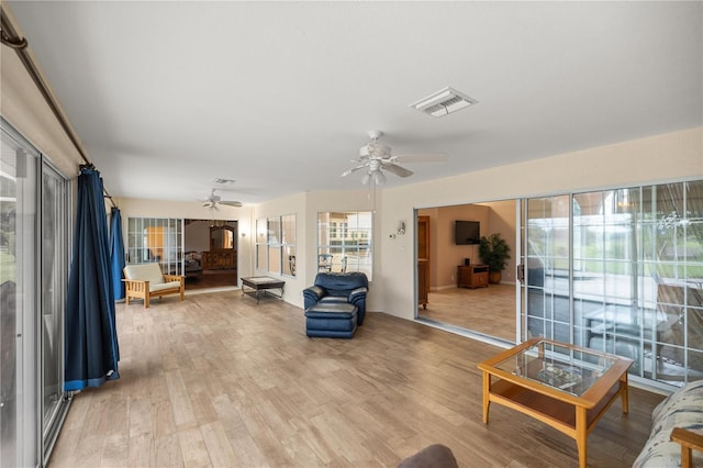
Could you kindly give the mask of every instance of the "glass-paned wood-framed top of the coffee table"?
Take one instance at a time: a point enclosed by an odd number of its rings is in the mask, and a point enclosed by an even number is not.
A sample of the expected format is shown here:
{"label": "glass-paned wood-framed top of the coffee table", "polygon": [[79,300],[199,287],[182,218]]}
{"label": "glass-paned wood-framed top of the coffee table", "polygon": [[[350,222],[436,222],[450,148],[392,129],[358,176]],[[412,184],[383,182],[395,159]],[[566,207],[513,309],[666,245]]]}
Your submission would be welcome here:
{"label": "glass-paned wood-framed top of the coffee table", "polygon": [[538,341],[494,367],[580,397],[616,361],[616,356]]}

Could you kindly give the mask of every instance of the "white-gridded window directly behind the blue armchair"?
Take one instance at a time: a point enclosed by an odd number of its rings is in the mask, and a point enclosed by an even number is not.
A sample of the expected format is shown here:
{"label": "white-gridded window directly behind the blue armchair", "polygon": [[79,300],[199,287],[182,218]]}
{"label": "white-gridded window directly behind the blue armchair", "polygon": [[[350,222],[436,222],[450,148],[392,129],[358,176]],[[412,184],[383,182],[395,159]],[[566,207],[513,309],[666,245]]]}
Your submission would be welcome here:
{"label": "white-gridded window directly behind the blue armchair", "polygon": [[372,221],[370,211],[319,213],[319,271],[362,271],[370,280],[373,269]]}

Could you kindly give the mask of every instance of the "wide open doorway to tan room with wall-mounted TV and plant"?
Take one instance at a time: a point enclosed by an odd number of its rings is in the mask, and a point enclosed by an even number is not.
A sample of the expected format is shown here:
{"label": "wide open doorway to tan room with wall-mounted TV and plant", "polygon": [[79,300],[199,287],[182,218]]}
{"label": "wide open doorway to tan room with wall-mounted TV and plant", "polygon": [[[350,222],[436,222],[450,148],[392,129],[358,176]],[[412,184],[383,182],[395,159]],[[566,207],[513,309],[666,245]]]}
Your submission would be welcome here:
{"label": "wide open doorway to tan room with wall-mounted TV and plant", "polygon": [[[515,343],[517,337],[517,307],[515,300],[517,218],[516,201],[501,200],[436,207],[416,210],[416,219],[426,220],[425,234],[419,226],[416,235],[427,237],[428,261],[426,281],[421,280],[421,255],[417,254],[416,316],[439,326]],[[457,239],[457,221],[471,221],[479,226],[479,235],[500,233],[511,248],[511,258],[496,285],[480,287],[460,281],[467,266],[478,266],[479,244],[472,239]],[[466,225],[466,223],[459,223]],[[420,238],[416,239],[420,243]],[[421,287],[426,282],[426,304]]]}

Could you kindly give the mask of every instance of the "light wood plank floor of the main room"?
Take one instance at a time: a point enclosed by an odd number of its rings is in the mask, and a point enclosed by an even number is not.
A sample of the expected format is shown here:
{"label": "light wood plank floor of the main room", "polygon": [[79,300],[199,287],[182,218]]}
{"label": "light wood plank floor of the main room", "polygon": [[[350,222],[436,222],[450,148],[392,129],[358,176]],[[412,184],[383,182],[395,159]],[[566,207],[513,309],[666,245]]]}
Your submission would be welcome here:
{"label": "light wood plank floor of the main room", "polygon": [[[51,467],[393,467],[442,443],[462,467],[569,467],[574,442],[491,408],[477,364],[500,349],[383,313],[353,339],[308,338],[303,312],[239,291],[118,305],[121,379],[77,394]],[[631,390],[589,436],[629,467],[661,395]]]}

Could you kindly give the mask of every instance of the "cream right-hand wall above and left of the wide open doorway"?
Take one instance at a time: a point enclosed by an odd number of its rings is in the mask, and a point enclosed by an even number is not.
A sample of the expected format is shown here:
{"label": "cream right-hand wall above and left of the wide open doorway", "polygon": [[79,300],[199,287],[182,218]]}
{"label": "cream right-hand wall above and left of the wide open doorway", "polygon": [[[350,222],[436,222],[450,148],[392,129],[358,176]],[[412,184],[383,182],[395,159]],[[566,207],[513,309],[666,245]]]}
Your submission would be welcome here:
{"label": "cream right-hand wall above and left of the wide open doorway", "polygon": [[[461,157],[461,155],[453,155]],[[416,208],[568,193],[607,187],[703,177],[703,127],[649,136],[544,159],[495,167],[383,191],[383,226],[412,220]],[[377,277],[386,313],[413,319],[413,223],[402,239],[381,237],[377,261],[392,275]]]}

